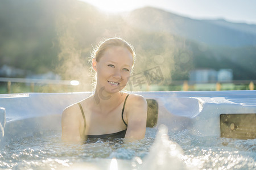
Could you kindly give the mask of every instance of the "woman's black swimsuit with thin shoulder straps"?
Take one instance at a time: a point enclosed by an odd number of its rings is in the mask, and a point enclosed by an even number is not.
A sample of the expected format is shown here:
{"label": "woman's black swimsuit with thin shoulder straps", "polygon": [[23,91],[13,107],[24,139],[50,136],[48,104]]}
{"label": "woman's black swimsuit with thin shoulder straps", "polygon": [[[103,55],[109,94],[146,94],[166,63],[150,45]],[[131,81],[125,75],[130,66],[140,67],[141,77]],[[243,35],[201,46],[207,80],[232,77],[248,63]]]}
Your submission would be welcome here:
{"label": "woman's black swimsuit with thin shoulder straps", "polygon": [[[126,100],[127,100],[127,97],[129,96],[129,94],[126,96],[125,98],[125,103],[126,103]],[[123,120],[123,111],[125,111],[125,103],[123,103],[123,109],[122,109],[122,120]],[[84,118],[84,130],[82,131],[82,134],[85,133],[85,127],[86,127],[86,121],[85,121],[85,116],[84,116],[84,111],[82,109],[82,106],[80,103],[77,103],[79,104],[79,107],[81,109],[81,112],[82,112],[82,117]],[[125,122],[125,120],[123,120],[123,123],[125,124],[125,126],[127,127],[127,124]],[[122,131],[118,131],[116,133],[110,133],[110,134],[102,134],[102,135],[86,135],[87,136],[87,139],[114,139],[114,138],[124,138],[125,137],[125,134],[126,134],[126,130],[122,130]],[[82,137],[84,138],[84,137]]]}

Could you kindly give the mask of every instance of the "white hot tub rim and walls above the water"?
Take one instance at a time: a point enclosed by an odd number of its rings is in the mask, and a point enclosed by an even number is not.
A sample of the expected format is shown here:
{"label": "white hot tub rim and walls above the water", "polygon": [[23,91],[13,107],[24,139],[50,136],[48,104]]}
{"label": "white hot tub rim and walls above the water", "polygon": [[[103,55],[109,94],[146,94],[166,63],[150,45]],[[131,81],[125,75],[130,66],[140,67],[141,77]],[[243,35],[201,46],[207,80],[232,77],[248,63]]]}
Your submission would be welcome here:
{"label": "white hot tub rim and walls above the water", "polygon": [[[133,93],[158,101],[156,128],[164,124],[169,130],[188,129],[200,136],[220,136],[222,113],[256,113],[255,91]],[[1,141],[43,130],[60,130],[63,109],[90,95],[90,92],[0,95],[0,124],[4,129]],[[3,135],[3,131],[0,133]]]}

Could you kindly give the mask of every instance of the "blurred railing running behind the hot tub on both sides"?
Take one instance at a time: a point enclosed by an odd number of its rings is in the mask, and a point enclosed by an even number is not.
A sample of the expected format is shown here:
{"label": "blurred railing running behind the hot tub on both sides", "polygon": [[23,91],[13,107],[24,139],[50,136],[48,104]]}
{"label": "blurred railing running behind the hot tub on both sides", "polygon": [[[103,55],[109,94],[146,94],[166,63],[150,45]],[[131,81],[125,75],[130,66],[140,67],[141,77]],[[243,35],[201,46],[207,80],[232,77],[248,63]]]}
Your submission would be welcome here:
{"label": "blurred railing running behind the hot tub on both sides", "polygon": [[[77,80],[51,80],[51,79],[23,79],[23,78],[0,78],[0,82],[7,82],[7,93],[11,93],[11,86],[14,83],[26,83],[26,86],[30,86],[30,92],[35,92],[35,84],[48,84],[48,85],[64,85],[64,86],[78,86],[79,82]],[[233,86],[243,86],[242,90],[254,90],[256,80],[233,80],[231,82],[205,82],[197,83],[187,80],[175,81],[173,80],[171,84],[166,86],[156,86],[154,88],[146,87],[144,89],[139,89],[139,91],[201,91],[201,90],[227,90],[226,86],[232,84]],[[84,85],[84,84],[83,84]],[[80,84],[81,86],[81,84]],[[172,86],[177,86],[178,88],[172,88]],[[204,87],[199,88],[199,86]],[[166,88],[163,88],[166,87]],[[129,88],[128,88],[129,90]],[[237,90],[236,88],[231,88],[228,90]],[[240,89],[238,89],[240,90]],[[69,90],[65,90],[70,92]],[[75,90],[76,91],[76,90]],[[22,90],[20,92],[23,92]],[[49,89],[45,92],[49,92]],[[56,92],[53,90],[53,92]]]}

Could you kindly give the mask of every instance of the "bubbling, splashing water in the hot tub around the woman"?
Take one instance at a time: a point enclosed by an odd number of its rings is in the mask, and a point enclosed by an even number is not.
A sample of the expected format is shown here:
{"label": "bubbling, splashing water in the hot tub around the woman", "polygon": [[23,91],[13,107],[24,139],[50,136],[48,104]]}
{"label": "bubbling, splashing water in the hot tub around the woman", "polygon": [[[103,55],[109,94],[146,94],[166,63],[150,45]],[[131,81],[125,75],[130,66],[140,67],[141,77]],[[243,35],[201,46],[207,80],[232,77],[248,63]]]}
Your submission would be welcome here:
{"label": "bubbling, splashing water in the hot tub around the woman", "polygon": [[3,169],[255,169],[256,139],[198,137],[188,130],[147,129],[138,142],[69,145],[60,131],[9,142],[0,150]]}

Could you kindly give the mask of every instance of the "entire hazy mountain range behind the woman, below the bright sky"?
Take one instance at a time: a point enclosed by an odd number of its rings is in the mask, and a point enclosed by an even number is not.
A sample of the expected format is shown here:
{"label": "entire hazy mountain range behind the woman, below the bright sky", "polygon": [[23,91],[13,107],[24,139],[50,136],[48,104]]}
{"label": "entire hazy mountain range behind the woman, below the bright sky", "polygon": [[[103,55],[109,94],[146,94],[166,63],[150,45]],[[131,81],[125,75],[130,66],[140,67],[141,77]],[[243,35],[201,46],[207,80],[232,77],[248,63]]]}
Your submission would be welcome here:
{"label": "entire hazy mountain range behind the woman, below the bright sky", "polygon": [[159,66],[163,84],[188,79],[192,69],[233,69],[256,79],[255,25],[195,20],[152,7],[108,14],[75,0],[0,1],[0,67],[89,82],[92,46],[122,37],[137,52],[134,73]]}

